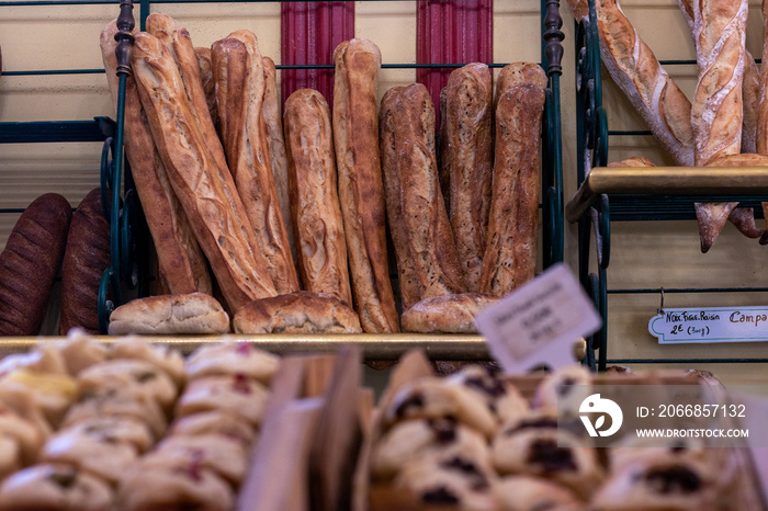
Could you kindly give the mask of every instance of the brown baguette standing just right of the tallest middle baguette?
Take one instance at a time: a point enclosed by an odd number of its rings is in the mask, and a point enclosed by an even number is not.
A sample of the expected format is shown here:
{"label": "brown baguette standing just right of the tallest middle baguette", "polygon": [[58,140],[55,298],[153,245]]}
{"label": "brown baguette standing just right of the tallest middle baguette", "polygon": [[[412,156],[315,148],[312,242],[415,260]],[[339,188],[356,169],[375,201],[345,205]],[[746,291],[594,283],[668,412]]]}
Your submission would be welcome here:
{"label": "brown baguette standing just right of the tallest middle baguette", "polygon": [[405,281],[403,307],[463,293],[464,280],[440,190],[434,106],[427,88],[414,83],[389,89],[382,99],[379,133],[397,268],[406,268],[399,271],[400,282]]}

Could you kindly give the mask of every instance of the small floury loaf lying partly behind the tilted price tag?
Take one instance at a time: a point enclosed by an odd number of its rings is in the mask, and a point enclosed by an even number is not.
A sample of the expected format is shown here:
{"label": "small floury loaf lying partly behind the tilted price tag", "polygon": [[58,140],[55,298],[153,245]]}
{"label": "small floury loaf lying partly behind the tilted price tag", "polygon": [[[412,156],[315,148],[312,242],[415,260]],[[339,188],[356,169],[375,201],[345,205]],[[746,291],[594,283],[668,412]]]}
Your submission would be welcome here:
{"label": "small floury loaf lying partly behind the tilted price tag", "polygon": [[403,313],[403,331],[476,333],[475,317],[498,297],[481,293],[426,298]]}

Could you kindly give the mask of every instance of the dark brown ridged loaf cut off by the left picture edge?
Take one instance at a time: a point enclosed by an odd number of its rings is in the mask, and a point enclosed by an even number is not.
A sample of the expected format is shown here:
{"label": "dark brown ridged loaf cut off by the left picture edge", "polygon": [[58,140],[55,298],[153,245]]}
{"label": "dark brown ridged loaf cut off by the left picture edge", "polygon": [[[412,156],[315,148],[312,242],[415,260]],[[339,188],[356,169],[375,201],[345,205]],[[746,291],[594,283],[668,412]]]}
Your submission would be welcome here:
{"label": "dark brown ridged loaf cut off by the left picture edge", "polygon": [[35,336],[61,268],[72,209],[55,193],[21,214],[0,252],[0,336]]}

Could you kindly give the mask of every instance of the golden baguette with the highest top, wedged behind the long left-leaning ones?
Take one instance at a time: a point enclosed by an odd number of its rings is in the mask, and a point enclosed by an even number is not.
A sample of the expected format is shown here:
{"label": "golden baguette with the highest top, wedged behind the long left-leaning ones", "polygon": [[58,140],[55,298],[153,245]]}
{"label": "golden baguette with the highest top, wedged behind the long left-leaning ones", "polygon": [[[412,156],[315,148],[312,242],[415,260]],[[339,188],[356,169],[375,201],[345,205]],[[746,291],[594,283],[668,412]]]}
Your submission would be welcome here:
{"label": "golden baguette with the highest top, wedged behind the long left-leaning ones", "polygon": [[227,168],[224,157],[224,148],[216,133],[216,128],[208,111],[208,101],[203,89],[203,80],[200,78],[200,64],[192,45],[192,38],[187,29],[166,14],[153,13],[147,16],[147,32],[158,38],[165,45],[165,50],[171,56],[179,69],[184,91],[189,99],[190,109],[194,114],[197,125],[208,150],[216,164],[221,169]]}

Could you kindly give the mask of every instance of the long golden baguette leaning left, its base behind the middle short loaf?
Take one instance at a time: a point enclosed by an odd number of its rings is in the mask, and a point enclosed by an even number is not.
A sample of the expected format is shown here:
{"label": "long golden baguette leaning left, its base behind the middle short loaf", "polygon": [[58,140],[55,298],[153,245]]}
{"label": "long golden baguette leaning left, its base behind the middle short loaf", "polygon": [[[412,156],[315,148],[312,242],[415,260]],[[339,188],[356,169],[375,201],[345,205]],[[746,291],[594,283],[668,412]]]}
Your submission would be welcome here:
{"label": "long golden baguette leaning left, its base behind the middle short loaf", "polygon": [[274,287],[279,294],[298,291],[262,117],[264,71],[259,44],[252,32],[236,31],[215,42],[212,52],[229,170]]}

